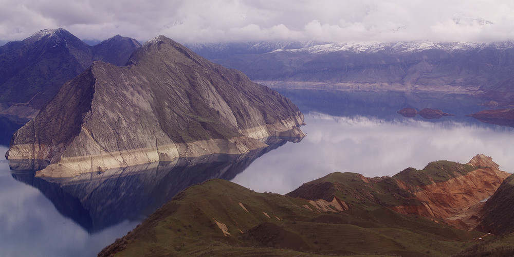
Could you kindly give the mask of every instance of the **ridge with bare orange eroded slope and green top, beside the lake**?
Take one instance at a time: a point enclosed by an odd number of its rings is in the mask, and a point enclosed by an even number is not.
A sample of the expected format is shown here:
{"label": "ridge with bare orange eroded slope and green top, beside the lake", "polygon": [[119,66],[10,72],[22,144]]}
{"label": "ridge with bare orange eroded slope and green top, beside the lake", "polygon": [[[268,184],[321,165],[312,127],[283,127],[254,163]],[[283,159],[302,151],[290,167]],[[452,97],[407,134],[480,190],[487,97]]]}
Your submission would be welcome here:
{"label": "ridge with bare orange eroded slope and green top, beside the lake", "polygon": [[490,197],[509,176],[498,167],[490,157],[476,155],[467,164],[431,162],[423,170],[409,168],[393,177],[334,173],[305,183],[287,195],[325,200],[337,196],[351,205],[387,206],[399,213],[473,229],[478,221],[475,215],[480,210],[474,206],[481,205],[480,201]]}

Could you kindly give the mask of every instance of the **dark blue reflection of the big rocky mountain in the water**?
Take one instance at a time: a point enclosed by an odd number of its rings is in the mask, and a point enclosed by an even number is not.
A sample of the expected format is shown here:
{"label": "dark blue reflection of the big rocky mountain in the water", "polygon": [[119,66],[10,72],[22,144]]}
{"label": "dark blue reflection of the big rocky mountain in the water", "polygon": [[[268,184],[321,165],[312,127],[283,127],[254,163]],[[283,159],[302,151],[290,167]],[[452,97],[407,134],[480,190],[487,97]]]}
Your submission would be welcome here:
{"label": "dark blue reflection of the big rocky mountain in the water", "polygon": [[181,190],[211,178],[230,180],[263,154],[287,140],[268,138],[267,148],[241,155],[214,154],[154,162],[76,177],[35,177],[11,171],[12,177],[38,188],[56,209],[88,232],[124,220],[142,221]]}

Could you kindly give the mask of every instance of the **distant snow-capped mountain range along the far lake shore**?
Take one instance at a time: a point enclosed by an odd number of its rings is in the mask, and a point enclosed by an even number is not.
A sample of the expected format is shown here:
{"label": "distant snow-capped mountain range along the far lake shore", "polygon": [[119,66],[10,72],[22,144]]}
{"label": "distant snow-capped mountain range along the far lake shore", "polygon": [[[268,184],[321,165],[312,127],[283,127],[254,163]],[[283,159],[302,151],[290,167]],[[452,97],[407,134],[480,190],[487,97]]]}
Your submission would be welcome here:
{"label": "distant snow-capped mountain range along the far lake shore", "polygon": [[[222,54],[233,49],[228,44],[192,49],[276,88],[438,90],[487,98],[514,69],[512,42],[331,43],[230,55]],[[505,101],[504,94],[495,96]]]}

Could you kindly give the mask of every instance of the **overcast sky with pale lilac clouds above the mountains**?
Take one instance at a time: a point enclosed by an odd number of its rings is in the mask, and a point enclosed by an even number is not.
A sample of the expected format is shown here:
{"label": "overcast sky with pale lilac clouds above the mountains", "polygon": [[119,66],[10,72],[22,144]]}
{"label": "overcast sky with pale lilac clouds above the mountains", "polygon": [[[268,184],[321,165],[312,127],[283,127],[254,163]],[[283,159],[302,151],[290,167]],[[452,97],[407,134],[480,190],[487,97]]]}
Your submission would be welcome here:
{"label": "overcast sky with pale lilac clouds above the mountains", "polygon": [[471,41],[514,38],[510,0],[0,0],[0,42],[45,28],[145,42]]}

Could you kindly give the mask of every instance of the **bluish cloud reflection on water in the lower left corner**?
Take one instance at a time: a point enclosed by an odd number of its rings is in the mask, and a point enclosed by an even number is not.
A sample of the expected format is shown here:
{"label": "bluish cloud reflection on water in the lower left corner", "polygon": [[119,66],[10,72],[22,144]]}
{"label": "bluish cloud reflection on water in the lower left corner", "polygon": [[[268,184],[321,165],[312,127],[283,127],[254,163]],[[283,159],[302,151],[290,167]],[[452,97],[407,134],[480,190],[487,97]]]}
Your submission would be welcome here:
{"label": "bluish cloud reflection on water in the lower left corner", "polygon": [[2,256],[93,256],[138,223],[125,221],[89,234],[61,215],[38,189],[14,181],[7,162],[0,163],[0,171],[0,188],[6,192],[0,194]]}

